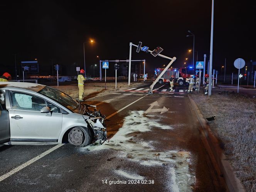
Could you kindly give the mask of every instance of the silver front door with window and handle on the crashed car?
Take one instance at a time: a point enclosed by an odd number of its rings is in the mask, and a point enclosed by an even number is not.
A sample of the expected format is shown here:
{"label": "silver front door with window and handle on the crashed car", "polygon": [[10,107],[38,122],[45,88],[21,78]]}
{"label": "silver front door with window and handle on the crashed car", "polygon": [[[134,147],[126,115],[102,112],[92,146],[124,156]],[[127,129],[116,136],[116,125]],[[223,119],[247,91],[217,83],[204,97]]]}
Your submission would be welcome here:
{"label": "silver front door with window and handle on the crashed car", "polygon": [[[62,127],[61,109],[52,105],[41,113],[47,101],[32,94],[10,91],[10,141],[56,142]],[[49,102],[48,102],[49,103]],[[49,106],[50,107],[50,106]],[[53,109],[54,108],[54,109]]]}

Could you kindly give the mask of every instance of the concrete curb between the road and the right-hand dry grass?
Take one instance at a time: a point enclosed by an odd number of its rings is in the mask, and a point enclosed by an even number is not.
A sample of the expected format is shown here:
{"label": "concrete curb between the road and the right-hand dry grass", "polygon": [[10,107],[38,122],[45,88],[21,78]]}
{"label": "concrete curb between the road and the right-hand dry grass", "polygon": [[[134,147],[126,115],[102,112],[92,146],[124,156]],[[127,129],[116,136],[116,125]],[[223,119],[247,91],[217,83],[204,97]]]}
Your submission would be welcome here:
{"label": "concrete curb between the road and the right-hand dry grass", "polygon": [[207,125],[206,120],[201,114],[199,108],[197,107],[197,104],[190,96],[189,100],[197,115],[200,125],[202,126],[202,129],[200,129],[200,131],[205,136],[205,139],[207,141],[207,146],[205,148],[210,156],[211,154],[214,156],[214,162],[217,163],[219,169],[221,170],[227,188],[229,189],[229,191],[232,192],[245,192],[246,190],[244,189],[243,184],[241,184],[241,180],[236,177],[230,162],[226,159],[226,156],[224,155],[222,149],[219,147],[219,141],[212,133],[210,126]]}

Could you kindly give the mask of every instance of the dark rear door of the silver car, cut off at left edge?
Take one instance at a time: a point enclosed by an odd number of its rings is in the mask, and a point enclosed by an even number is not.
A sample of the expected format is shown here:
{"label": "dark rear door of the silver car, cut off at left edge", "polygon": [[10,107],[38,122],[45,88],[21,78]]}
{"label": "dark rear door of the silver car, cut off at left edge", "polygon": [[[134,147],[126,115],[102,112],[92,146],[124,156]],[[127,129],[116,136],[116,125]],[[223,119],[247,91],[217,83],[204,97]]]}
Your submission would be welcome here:
{"label": "dark rear door of the silver car, cut off at left edge", "polygon": [[10,141],[9,113],[5,108],[5,92],[0,90],[0,144]]}

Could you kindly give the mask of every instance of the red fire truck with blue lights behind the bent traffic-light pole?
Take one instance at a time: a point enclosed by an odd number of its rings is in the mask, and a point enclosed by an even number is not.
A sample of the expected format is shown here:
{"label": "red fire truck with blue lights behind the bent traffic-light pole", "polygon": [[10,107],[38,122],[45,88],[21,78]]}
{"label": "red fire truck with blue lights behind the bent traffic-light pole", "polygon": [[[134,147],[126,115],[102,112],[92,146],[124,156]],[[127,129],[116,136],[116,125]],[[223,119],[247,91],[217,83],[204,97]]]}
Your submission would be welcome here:
{"label": "red fire truck with blue lights behind the bent traffic-light pole", "polygon": [[[157,75],[160,75],[164,68],[157,68]],[[194,75],[193,69],[191,67],[182,68],[169,68],[162,77],[158,80],[160,84],[170,82],[170,78],[173,76],[173,81],[178,83],[180,86],[189,83],[189,78]],[[156,79],[156,78],[155,78]]]}

